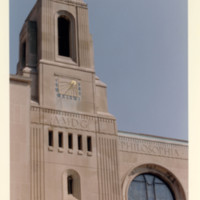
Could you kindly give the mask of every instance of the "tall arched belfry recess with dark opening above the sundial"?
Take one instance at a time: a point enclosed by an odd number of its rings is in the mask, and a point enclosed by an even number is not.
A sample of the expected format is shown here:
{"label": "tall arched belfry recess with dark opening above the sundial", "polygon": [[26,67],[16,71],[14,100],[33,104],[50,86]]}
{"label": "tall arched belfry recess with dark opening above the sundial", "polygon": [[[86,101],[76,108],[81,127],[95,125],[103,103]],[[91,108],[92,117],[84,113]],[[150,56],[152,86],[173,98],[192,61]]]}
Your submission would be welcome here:
{"label": "tall arched belfry recess with dark opening above the sundial", "polygon": [[[76,25],[73,14],[66,10],[59,10],[55,17],[56,55],[60,61],[71,59],[76,61]],[[59,59],[60,57],[60,59]]]}

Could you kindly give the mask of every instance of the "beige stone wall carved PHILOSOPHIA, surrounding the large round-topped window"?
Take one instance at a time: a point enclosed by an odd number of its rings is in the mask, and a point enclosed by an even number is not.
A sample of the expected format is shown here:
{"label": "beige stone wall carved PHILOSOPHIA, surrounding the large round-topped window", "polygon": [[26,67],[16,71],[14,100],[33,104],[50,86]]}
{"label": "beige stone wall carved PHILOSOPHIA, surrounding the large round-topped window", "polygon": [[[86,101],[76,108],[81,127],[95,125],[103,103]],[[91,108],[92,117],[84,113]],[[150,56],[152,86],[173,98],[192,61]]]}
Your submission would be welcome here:
{"label": "beige stone wall carved PHILOSOPHIA, surrounding the large round-topped window", "polygon": [[188,196],[188,146],[186,142],[121,133],[118,138],[119,174],[123,200],[130,182],[139,174],[153,173],[163,178],[176,199]]}

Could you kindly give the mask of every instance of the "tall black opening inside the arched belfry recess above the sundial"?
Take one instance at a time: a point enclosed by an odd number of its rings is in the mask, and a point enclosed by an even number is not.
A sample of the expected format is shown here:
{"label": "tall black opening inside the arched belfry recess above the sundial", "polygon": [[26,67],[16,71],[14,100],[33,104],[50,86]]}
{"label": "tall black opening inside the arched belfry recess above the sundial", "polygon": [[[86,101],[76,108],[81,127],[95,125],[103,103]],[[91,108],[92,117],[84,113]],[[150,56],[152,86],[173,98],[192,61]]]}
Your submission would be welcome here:
{"label": "tall black opening inside the arched belfry recess above the sundial", "polygon": [[70,57],[70,21],[62,16],[58,18],[58,53]]}

